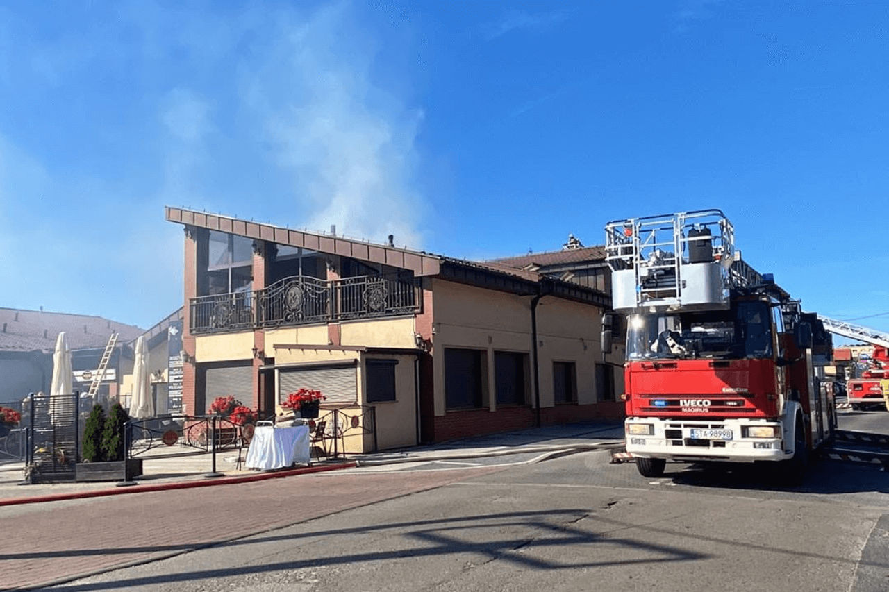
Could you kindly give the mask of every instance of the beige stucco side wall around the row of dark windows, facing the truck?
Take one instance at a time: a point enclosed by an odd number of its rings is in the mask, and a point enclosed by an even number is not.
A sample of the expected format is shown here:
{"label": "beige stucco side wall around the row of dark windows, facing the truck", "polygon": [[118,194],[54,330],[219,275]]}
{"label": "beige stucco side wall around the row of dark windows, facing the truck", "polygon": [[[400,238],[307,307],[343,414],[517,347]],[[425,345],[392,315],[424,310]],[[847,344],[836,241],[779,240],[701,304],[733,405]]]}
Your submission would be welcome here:
{"label": "beige stucco side wall around the row of dark windows, facing the truck", "polygon": [[[494,352],[516,351],[528,356],[531,368],[528,401],[533,402],[533,358],[530,296],[494,292],[473,286],[433,280],[436,415],[445,413],[444,348],[483,349],[487,362],[486,406],[496,408]],[[546,296],[537,307],[541,407],[554,405],[553,362],[573,362],[577,372],[579,404],[596,403],[596,364],[602,362],[600,332],[602,309]],[[623,388],[622,348],[608,361],[617,364],[615,392]]]}

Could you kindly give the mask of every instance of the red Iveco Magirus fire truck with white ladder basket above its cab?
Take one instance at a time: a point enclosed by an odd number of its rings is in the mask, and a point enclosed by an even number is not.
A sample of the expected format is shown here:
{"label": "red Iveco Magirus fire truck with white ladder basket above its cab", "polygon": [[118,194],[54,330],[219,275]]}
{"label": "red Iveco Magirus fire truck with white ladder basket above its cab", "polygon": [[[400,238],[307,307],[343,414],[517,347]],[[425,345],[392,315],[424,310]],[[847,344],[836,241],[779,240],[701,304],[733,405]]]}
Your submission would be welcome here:
{"label": "red Iveco Magirus fire truck with white ladder basket above its cab", "polygon": [[719,210],[617,220],[605,236],[615,314],[603,348],[625,316],[626,450],[639,473],[764,461],[800,479],[837,425],[818,316],[741,259]]}

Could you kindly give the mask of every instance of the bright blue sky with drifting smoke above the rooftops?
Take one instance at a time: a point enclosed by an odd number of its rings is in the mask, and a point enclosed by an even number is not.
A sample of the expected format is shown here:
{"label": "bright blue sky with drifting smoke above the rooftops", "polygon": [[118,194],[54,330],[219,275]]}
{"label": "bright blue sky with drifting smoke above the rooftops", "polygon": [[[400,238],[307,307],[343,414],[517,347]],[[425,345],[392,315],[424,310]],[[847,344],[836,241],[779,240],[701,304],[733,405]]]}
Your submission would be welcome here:
{"label": "bright blue sky with drifting smoke above the rooftops", "polygon": [[148,327],[164,204],[453,257],[721,208],[889,332],[889,4],[0,4],[0,306]]}

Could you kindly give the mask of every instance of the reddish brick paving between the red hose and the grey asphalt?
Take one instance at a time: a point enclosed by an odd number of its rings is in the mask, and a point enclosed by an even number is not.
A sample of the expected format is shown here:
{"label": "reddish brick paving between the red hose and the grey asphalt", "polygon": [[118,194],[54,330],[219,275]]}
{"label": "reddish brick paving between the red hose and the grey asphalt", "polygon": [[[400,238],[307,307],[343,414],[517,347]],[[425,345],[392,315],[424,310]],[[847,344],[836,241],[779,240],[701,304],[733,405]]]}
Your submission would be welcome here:
{"label": "reddish brick paving between the red hose and the grey asphalt", "polygon": [[373,475],[346,469],[0,508],[0,589],[38,588],[156,560],[497,470]]}

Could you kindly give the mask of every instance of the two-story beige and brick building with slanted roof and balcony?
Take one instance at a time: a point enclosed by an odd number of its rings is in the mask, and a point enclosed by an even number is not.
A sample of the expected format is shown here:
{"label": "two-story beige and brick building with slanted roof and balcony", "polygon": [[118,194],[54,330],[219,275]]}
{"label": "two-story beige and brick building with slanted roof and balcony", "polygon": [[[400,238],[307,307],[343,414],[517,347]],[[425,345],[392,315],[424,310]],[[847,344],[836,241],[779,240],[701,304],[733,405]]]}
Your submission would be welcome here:
{"label": "two-story beige and brick building with slanted roof and balcony", "polygon": [[166,219],[185,230],[188,414],[228,395],[270,414],[316,388],[360,435],[344,439],[355,452],[622,415],[602,290],[391,238],[174,207]]}

